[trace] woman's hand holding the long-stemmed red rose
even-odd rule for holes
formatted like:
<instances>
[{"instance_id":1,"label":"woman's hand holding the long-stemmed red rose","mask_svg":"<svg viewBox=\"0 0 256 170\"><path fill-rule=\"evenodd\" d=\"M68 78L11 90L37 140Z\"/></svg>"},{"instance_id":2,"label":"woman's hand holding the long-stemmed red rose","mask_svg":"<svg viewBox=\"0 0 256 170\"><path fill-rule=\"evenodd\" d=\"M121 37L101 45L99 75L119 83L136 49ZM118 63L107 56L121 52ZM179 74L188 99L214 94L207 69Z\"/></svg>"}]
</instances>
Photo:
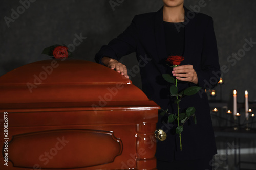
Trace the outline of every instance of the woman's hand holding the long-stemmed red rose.
<instances>
[{"instance_id":1,"label":"woman's hand holding the long-stemmed red rose","mask_svg":"<svg viewBox=\"0 0 256 170\"><path fill-rule=\"evenodd\" d=\"M194 70L193 65L181 65L175 67L172 73L178 80L194 84L198 83L197 73Z\"/></svg>"}]
</instances>

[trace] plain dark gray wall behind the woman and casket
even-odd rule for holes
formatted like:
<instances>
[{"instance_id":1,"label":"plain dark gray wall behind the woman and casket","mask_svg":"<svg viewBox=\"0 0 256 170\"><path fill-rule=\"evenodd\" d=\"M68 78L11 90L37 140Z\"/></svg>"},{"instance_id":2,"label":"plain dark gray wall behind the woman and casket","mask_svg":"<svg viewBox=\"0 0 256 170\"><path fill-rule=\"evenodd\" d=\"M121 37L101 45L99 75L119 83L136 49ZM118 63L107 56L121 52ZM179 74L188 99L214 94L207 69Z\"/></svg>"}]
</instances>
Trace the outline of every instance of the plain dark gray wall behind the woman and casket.
<instances>
[{"instance_id":1,"label":"plain dark gray wall behind the woman and casket","mask_svg":"<svg viewBox=\"0 0 256 170\"><path fill-rule=\"evenodd\" d=\"M1 0L0 76L19 66L49 59L41 54L45 47L72 44L75 34L87 38L75 47L73 58L94 61L99 48L121 33L134 15L154 12L162 6L161 0L113 1L121 2L114 10L109 0L33 0L30 4L26 3L29 6L26 8L21 7L20 1ZM198 1L185 0L187 8L196 5ZM12 9L18 9L19 16L12 16ZM238 90L238 102L244 101L245 90L249 91L249 101L256 100L256 44L243 51L245 39L256 42L255 9L254 0L205 0L205 6L198 9L214 18L220 65L226 65L229 69L223 72L224 100L229 100L233 89ZM8 27L5 17L16 18ZM233 53L241 53L240 56L243 57L239 60L232 58L236 63L228 62L228 56ZM122 62L130 69L137 64L134 54L125 56ZM141 87L139 74L132 81ZM216 90L219 98L220 87Z\"/></svg>"}]
</instances>

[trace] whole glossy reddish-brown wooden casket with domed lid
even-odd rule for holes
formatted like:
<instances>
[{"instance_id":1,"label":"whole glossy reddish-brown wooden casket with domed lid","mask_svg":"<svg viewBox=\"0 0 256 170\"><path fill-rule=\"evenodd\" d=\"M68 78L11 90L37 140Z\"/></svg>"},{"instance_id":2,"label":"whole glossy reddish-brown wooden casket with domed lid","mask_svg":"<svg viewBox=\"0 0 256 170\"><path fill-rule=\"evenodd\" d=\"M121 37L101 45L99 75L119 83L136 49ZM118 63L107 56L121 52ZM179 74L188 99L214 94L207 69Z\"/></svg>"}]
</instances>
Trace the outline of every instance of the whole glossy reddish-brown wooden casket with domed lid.
<instances>
[{"instance_id":1,"label":"whole glossy reddish-brown wooden casket with domed lid","mask_svg":"<svg viewBox=\"0 0 256 170\"><path fill-rule=\"evenodd\" d=\"M159 106L116 71L53 59L0 77L0 169L156 169Z\"/></svg>"}]
</instances>

